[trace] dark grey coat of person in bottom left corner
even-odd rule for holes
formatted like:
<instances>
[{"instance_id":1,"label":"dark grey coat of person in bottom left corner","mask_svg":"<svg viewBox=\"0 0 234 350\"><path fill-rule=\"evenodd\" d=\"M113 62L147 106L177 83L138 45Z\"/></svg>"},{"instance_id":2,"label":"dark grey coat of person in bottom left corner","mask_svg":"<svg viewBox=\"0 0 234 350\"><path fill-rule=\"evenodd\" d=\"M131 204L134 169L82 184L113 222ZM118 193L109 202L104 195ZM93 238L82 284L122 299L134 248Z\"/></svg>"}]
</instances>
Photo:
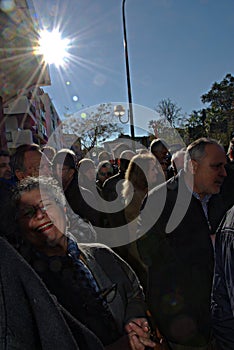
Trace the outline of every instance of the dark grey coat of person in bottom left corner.
<instances>
[{"instance_id":1,"label":"dark grey coat of person in bottom left corner","mask_svg":"<svg viewBox=\"0 0 234 350\"><path fill-rule=\"evenodd\" d=\"M102 350L52 298L31 267L0 238L0 349Z\"/></svg>"}]
</instances>

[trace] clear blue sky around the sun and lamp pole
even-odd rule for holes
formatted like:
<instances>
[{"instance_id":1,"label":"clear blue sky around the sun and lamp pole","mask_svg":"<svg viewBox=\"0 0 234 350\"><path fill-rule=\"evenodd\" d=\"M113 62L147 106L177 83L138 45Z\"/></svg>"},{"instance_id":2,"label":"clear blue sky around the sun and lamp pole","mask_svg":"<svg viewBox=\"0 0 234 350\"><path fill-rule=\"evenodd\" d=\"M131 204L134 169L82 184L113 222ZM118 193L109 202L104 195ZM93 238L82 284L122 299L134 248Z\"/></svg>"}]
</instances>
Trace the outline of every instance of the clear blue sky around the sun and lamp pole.
<instances>
[{"instance_id":1,"label":"clear blue sky around the sun and lamp pole","mask_svg":"<svg viewBox=\"0 0 234 350\"><path fill-rule=\"evenodd\" d=\"M31 1L41 25L59 25L73 39L72 61L51 66L52 85L44 89L60 116L126 102L122 1ZM233 0L126 0L133 103L148 110L170 98L184 114L203 108L201 95L234 74L233 15ZM134 121L147 130L149 119L141 113Z\"/></svg>"}]
</instances>

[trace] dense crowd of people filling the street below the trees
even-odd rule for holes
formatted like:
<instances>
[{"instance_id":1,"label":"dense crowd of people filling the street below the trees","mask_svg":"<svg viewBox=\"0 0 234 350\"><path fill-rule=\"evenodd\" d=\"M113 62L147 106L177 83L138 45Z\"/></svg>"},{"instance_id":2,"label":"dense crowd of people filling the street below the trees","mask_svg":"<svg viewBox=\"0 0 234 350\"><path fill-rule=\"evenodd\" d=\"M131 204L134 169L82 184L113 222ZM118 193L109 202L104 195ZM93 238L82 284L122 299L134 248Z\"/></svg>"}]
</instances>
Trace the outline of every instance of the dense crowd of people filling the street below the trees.
<instances>
[{"instance_id":1,"label":"dense crowd of people filling the street below the trees","mask_svg":"<svg viewBox=\"0 0 234 350\"><path fill-rule=\"evenodd\" d=\"M234 349L233 143L1 150L1 348Z\"/></svg>"}]
</instances>

